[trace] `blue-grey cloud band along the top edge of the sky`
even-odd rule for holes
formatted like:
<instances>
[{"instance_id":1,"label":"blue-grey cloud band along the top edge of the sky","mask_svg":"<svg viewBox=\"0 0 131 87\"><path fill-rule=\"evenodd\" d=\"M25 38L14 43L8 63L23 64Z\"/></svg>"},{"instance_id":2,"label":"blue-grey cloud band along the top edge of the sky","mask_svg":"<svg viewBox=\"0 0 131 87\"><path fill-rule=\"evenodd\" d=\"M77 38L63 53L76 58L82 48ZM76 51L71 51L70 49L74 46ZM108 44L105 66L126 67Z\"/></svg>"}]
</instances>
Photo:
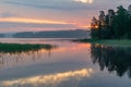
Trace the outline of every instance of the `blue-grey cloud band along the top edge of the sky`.
<instances>
[{"instance_id":1,"label":"blue-grey cloud band along the top edge of the sky","mask_svg":"<svg viewBox=\"0 0 131 87\"><path fill-rule=\"evenodd\" d=\"M86 2L86 4L81 3ZM15 4L15 5L22 5L22 7L31 7L31 8L37 8L37 9L52 9L52 10L87 10L90 7L88 3L92 3L93 0L55 0L55 1L46 1L46 0L38 0L36 3L35 1L27 0L24 1L4 1L4 3L8 4ZM43 3L43 4L41 4Z\"/></svg>"}]
</instances>

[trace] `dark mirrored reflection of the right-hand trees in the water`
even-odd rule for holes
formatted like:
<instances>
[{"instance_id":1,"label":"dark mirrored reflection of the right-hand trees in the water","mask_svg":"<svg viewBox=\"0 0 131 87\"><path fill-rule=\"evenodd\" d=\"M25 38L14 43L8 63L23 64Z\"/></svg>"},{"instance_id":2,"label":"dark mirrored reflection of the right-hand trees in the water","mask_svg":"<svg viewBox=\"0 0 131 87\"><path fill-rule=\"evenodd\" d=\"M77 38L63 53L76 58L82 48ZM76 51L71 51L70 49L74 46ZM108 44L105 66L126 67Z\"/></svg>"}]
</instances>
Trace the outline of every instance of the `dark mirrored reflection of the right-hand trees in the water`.
<instances>
[{"instance_id":1,"label":"dark mirrored reflection of the right-hand trees in the water","mask_svg":"<svg viewBox=\"0 0 131 87\"><path fill-rule=\"evenodd\" d=\"M102 71L116 72L118 76L126 73L131 78L131 48L92 45L93 63L98 63Z\"/></svg>"}]
</instances>

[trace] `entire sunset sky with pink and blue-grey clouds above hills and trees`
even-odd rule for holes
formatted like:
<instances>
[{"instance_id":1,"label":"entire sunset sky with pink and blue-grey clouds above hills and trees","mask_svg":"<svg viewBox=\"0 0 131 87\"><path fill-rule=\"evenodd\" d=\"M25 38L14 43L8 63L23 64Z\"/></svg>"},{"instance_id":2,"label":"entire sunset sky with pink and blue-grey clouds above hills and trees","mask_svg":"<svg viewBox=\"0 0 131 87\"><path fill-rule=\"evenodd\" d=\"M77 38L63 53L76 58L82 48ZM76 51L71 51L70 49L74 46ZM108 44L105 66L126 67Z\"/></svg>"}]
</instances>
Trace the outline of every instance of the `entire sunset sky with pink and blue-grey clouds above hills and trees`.
<instances>
[{"instance_id":1,"label":"entire sunset sky with pink and blue-grey clouds above hills and trees","mask_svg":"<svg viewBox=\"0 0 131 87\"><path fill-rule=\"evenodd\" d=\"M0 33L88 29L99 11L131 0L0 0Z\"/></svg>"}]
</instances>

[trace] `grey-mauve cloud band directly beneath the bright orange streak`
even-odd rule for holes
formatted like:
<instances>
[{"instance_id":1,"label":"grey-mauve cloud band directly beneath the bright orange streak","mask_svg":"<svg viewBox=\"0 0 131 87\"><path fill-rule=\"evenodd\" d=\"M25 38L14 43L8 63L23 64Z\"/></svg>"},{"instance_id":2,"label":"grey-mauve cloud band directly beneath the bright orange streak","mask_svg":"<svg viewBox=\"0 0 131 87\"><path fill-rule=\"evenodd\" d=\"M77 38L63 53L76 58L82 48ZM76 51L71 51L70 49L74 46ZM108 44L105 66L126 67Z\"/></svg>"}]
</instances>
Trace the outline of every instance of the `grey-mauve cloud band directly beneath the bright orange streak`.
<instances>
[{"instance_id":1,"label":"grey-mauve cloud band directly beneath the bright orange streak","mask_svg":"<svg viewBox=\"0 0 131 87\"><path fill-rule=\"evenodd\" d=\"M0 22L0 28L16 28L16 27L29 27L29 28L73 28L72 24L35 24L35 23L16 23L16 22Z\"/></svg>"}]
</instances>

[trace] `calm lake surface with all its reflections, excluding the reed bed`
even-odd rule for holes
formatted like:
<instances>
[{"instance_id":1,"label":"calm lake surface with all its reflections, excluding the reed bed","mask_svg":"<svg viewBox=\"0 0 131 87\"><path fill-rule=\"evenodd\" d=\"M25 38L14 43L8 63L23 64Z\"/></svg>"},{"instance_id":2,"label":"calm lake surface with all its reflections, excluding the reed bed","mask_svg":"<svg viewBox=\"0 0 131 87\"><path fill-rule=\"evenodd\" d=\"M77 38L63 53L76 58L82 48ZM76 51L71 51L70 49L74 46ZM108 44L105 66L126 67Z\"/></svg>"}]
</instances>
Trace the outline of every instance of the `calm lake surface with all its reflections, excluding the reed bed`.
<instances>
[{"instance_id":1,"label":"calm lake surface with all its reflections, excluding the reed bed","mask_svg":"<svg viewBox=\"0 0 131 87\"><path fill-rule=\"evenodd\" d=\"M51 44L58 48L0 51L0 87L130 87L131 48L57 39L0 39L1 42Z\"/></svg>"}]
</instances>

